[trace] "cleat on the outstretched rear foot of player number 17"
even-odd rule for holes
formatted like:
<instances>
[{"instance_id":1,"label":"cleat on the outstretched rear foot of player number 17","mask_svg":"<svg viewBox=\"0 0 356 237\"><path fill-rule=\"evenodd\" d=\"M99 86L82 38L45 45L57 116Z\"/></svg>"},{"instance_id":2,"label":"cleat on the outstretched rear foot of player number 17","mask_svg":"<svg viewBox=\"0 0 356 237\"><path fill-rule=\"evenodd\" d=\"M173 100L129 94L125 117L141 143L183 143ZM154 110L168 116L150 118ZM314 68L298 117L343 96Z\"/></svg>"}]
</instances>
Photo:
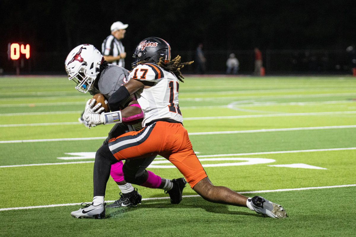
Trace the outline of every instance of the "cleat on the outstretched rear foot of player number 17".
<instances>
[{"instance_id":1,"label":"cleat on the outstretched rear foot of player number 17","mask_svg":"<svg viewBox=\"0 0 356 237\"><path fill-rule=\"evenodd\" d=\"M249 198L248 201L251 202L253 209L255 209L258 214L262 214L262 216L269 216L278 219L287 217L287 212L281 205L272 203L271 201L268 201L260 196Z\"/></svg>"}]
</instances>

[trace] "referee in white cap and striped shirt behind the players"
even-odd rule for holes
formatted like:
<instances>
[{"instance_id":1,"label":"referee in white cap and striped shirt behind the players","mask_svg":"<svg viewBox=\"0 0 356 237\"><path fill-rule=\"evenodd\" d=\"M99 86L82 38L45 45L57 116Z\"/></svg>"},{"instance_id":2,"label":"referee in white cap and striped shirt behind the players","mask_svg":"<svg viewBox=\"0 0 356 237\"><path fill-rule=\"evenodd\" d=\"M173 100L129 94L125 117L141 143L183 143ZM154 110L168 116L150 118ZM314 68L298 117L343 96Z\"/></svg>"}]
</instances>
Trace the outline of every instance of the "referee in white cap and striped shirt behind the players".
<instances>
[{"instance_id":1,"label":"referee in white cap and striped shirt behind the players","mask_svg":"<svg viewBox=\"0 0 356 237\"><path fill-rule=\"evenodd\" d=\"M101 53L104 55L104 59L111 64L124 68L126 53L121 39L125 37L126 28L128 26L127 24L122 24L121 21L112 23L110 36L106 37L103 44L101 44Z\"/></svg>"}]
</instances>

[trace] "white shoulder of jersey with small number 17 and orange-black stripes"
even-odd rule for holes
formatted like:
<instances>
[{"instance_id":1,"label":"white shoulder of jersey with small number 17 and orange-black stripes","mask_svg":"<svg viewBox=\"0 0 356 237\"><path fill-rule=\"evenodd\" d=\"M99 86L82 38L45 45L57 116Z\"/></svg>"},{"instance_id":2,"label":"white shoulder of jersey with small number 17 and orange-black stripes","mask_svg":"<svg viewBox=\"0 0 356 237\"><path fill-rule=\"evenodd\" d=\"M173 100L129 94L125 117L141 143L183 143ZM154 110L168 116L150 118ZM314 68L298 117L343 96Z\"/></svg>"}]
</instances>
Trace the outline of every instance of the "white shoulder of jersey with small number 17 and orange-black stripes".
<instances>
[{"instance_id":1,"label":"white shoulder of jersey with small number 17 and orange-black stripes","mask_svg":"<svg viewBox=\"0 0 356 237\"><path fill-rule=\"evenodd\" d=\"M153 63L140 64L129 75L129 79L140 81L156 81L163 77L163 69Z\"/></svg>"}]
</instances>

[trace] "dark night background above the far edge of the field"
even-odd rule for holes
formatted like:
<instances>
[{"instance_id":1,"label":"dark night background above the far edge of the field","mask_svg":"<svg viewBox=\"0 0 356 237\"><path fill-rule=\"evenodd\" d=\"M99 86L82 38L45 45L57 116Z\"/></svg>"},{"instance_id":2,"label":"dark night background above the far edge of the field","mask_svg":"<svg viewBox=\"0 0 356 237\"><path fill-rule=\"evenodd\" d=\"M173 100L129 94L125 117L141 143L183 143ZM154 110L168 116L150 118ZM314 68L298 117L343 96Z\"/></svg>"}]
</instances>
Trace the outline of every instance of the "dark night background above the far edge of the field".
<instances>
[{"instance_id":1,"label":"dark night background above the far edge of the field","mask_svg":"<svg viewBox=\"0 0 356 237\"><path fill-rule=\"evenodd\" d=\"M115 21L129 24L122 40L127 69L133 49L149 36L168 41L172 55L179 53L184 61L193 60L195 48L203 43L211 73L225 70L231 52L240 60L241 72L248 73L253 70L255 47L262 50L267 72L335 73L336 64L346 72L346 48L356 44L355 0L2 0L0 9L0 68L4 74L15 71L7 59L7 44L25 42L31 45L32 55L22 72L64 75L69 51L83 43L101 50ZM319 66L303 68L300 63L293 68L293 55L302 62L305 52L314 55ZM323 55L328 64L321 67Z\"/></svg>"}]
</instances>

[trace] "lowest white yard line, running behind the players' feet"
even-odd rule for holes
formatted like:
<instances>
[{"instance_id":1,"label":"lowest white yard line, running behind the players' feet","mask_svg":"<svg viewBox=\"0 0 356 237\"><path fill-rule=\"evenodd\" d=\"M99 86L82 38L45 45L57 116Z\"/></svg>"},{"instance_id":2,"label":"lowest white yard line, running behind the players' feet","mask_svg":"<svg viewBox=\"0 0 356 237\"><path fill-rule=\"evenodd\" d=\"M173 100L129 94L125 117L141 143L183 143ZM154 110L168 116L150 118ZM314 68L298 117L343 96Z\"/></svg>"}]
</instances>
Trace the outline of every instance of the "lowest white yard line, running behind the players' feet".
<instances>
[{"instance_id":1,"label":"lowest white yard line, running behind the players' feet","mask_svg":"<svg viewBox=\"0 0 356 237\"><path fill-rule=\"evenodd\" d=\"M334 185L334 186L322 186L322 187L307 187L307 188L287 188L287 189L275 189L275 190L259 190L259 191L247 191L247 192L238 192L240 194L246 193L272 193L272 192L290 192L290 191L301 191L301 190L310 190L310 189L326 189L326 188L346 188L346 187L355 187L356 184L344 184L344 185ZM183 195L183 198L195 198L199 197L199 195ZM169 197L161 197L161 198L143 198L142 201L146 200L161 200L161 199L169 199ZM115 200L106 201L108 203L112 203ZM90 203L88 201L87 203ZM0 208L0 211L10 211L10 210L21 210L21 209L33 209L33 208L53 208L57 206L77 206L82 203L66 203L66 204L52 204L52 205L42 205L42 206L22 206L16 208Z\"/></svg>"}]
</instances>

